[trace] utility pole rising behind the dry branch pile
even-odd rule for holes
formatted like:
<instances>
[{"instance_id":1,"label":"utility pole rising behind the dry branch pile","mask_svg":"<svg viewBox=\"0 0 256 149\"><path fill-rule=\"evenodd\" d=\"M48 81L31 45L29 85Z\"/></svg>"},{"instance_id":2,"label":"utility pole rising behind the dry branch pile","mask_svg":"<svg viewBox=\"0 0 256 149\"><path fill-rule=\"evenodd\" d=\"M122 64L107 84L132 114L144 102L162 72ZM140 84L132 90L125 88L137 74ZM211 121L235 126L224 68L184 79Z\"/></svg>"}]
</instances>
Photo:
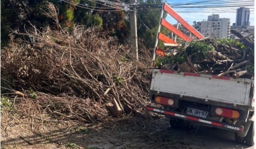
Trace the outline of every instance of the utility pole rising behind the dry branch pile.
<instances>
[{"instance_id":1,"label":"utility pole rising behind the dry branch pile","mask_svg":"<svg viewBox=\"0 0 256 149\"><path fill-rule=\"evenodd\" d=\"M136 4L136 0L129 0L130 4ZM136 54L138 60L138 37L137 37L137 20L136 20L136 9L133 7L130 12L130 30L131 30L131 46L132 53Z\"/></svg>"}]
</instances>

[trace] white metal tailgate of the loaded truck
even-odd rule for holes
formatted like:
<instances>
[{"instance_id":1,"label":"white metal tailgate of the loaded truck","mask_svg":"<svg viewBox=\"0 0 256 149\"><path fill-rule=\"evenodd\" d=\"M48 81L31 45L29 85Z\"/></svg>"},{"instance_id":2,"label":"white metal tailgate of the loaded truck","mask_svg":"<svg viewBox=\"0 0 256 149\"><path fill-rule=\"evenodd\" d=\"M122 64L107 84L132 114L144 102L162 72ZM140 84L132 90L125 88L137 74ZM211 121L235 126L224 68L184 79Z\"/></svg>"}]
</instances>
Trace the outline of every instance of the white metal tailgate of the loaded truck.
<instances>
[{"instance_id":1,"label":"white metal tailgate of the loaded truck","mask_svg":"<svg viewBox=\"0 0 256 149\"><path fill-rule=\"evenodd\" d=\"M249 106L252 80L153 69L150 91Z\"/></svg>"}]
</instances>

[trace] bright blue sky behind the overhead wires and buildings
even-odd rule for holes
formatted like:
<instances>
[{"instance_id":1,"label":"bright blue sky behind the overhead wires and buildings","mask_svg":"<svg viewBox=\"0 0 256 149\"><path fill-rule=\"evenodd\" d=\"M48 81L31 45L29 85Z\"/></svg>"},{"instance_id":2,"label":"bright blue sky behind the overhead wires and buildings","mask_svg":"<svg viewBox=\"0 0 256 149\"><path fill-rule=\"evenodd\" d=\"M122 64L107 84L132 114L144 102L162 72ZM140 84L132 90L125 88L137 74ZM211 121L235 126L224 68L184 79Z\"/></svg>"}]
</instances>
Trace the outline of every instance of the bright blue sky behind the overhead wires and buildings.
<instances>
[{"instance_id":1,"label":"bright blue sky behind the overhead wires and buildings","mask_svg":"<svg viewBox=\"0 0 256 149\"><path fill-rule=\"evenodd\" d=\"M196 0L196 1L201 1L201 0ZM205 1L205 0L204 0ZM242 1L242 0L241 0ZM193 0L167 0L167 3L171 4L171 3L183 3L183 2L193 2ZM236 9L239 7L232 7L232 9ZM186 8L186 9L181 9L181 8L173 8L176 12L179 13L180 16L182 16L182 18L184 18L185 20L187 20L190 24L193 24L193 21L196 22L200 22L203 19L207 20L207 17L212 15L213 11L216 10L216 8L213 9L209 9L209 8L202 8L202 9L197 9L200 11L205 11L204 13L194 13L194 12L190 12L190 13L182 13L179 11L195 11L195 9L193 8ZM221 8L222 10L225 10L225 8ZM226 9L230 9L230 8L226 8ZM207 13L207 11L211 11L209 13ZM252 10L251 10L252 11ZM230 18L231 21L231 25L232 23L235 23L235 19L236 19L236 10L232 10L232 12L221 12L221 13L214 13L214 14L219 14L220 18ZM175 19L173 19L170 15L167 15L168 22L175 24L177 23L177 21ZM253 26L254 25L254 12L250 12L250 25Z\"/></svg>"}]
</instances>

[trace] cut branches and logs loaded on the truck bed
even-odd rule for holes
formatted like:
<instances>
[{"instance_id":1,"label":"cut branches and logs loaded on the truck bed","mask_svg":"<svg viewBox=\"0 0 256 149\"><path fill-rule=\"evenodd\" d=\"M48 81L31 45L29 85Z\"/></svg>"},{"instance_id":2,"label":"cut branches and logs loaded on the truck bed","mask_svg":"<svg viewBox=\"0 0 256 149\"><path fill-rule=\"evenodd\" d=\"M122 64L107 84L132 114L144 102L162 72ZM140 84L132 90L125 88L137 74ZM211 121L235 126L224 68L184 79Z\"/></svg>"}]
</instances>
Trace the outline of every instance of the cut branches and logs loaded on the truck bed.
<instances>
[{"instance_id":1,"label":"cut branches and logs loaded on the truck bed","mask_svg":"<svg viewBox=\"0 0 256 149\"><path fill-rule=\"evenodd\" d=\"M155 66L178 72L251 78L254 73L254 39L249 36L240 38L193 41L172 49L170 53L161 53Z\"/></svg>"}]
</instances>

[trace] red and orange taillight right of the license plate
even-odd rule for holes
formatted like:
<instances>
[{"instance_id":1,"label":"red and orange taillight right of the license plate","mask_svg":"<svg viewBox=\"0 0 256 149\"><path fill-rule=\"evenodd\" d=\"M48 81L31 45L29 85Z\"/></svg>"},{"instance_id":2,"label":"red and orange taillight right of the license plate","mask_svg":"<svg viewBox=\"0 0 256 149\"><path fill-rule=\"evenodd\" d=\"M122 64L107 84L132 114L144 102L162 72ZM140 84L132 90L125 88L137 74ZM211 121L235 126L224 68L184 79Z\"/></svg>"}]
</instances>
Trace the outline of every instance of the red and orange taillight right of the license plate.
<instances>
[{"instance_id":1,"label":"red and orange taillight right of the license plate","mask_svg":"<svg viewBox=\"0 0 256 149\"><path fill-rule=\"evenodd\" d=\"M216 108L215 114L221 117L228 117L233 119L238 119L240 117L240 114L238 111L226 109L226 108Z\"/></svg>"}]
</instances>

